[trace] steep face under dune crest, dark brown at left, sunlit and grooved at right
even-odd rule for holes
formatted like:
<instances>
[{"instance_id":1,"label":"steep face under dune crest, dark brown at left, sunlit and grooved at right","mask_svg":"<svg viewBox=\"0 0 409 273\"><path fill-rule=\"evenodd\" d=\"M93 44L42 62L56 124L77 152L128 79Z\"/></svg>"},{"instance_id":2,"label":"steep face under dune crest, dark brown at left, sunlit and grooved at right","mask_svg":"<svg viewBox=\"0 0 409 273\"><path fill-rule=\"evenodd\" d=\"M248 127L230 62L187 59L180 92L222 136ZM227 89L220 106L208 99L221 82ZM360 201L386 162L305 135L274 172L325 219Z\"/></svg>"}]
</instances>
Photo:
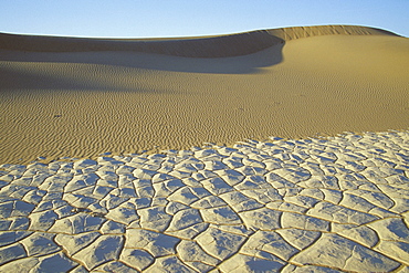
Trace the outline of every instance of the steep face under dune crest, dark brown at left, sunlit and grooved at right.
<instances>
[{"instance_id":1,"label":"steep face under dune crest, dark brown at left, sunlit and grooved at right","mask_svg":"<svg viewBox=\"0 0 409 273\"><path fill-rule=\"evenodd\" d=\"M295 27L181 39L86 39L0 33L0 49L33 52L134 51L188 57L226 57L255 53L295 39L335 34L397 35L357 25Z\"/></svg>"}]
</instances>

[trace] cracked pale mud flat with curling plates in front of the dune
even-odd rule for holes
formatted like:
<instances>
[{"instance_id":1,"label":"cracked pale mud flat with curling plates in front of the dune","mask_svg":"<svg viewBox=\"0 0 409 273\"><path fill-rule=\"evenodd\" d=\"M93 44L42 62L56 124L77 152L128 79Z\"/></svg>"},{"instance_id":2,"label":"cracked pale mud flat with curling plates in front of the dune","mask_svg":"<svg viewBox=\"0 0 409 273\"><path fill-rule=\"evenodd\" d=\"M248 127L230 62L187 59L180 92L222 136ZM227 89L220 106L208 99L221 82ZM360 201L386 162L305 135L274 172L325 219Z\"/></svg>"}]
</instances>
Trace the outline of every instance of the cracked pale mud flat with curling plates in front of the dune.
<instances>
[{"instance_id":1,"label":"cracked pale mud flat with curling plates in front of the dune","mask_svg":"<svg viewBox=\"0 0 409 273\"><path fill-rule=\"evenodd\" d=\"M2 165L0 272L409 272L409 132Z\"/></svg>"}]
</instances>

